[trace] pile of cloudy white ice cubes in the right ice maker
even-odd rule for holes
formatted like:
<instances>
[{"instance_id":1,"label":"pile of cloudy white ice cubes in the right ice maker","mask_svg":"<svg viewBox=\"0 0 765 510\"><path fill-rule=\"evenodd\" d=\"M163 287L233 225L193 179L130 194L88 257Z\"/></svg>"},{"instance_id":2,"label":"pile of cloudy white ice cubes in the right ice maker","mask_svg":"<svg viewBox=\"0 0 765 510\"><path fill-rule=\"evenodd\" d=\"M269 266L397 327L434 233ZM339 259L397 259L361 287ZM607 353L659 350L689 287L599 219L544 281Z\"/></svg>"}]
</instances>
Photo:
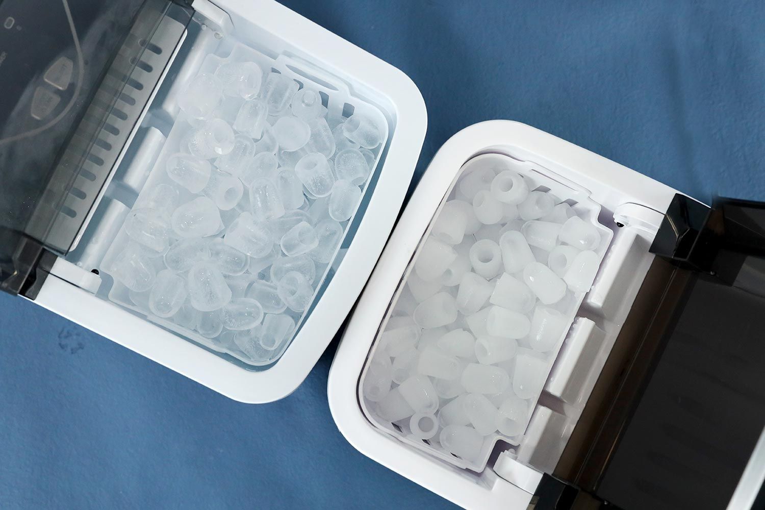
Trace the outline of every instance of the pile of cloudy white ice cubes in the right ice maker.
<instances>
[{"instance_id":1,"label":"pile of cloudy white ice cubes in the right ice maker","mask_svg":"<svg viewBox=\"0 0 765 510\"><path fill-rule=\"evenodd\" d=\"M448 459L519 444L601 261L597 227L532 182L491 164L461 176L367 363L367 409Z\"/></svg>"}]
</instances>

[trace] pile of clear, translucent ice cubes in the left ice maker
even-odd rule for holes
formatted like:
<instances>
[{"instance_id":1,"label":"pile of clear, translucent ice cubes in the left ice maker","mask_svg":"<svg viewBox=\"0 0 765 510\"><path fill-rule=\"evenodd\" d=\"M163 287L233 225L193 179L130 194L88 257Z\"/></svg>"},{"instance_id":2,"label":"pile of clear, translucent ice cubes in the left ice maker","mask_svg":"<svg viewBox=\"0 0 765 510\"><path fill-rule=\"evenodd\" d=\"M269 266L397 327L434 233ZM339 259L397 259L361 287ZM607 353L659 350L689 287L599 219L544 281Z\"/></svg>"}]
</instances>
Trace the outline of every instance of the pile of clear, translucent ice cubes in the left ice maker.
<instances>
[{"instance_id":1,"label":"pile of clear, translucent ice cubes in the left ice maker","mask_svg":"<svg viewBox=\"0 0 765 510\"><path fill-rule=\"evenodd\" d=\"M252 362L294 335L383 141L365 115L328 119L301 85L253 62L190 80L169 179L142 191L104 268L148 316Z\"/></svg>"}]
</instances>

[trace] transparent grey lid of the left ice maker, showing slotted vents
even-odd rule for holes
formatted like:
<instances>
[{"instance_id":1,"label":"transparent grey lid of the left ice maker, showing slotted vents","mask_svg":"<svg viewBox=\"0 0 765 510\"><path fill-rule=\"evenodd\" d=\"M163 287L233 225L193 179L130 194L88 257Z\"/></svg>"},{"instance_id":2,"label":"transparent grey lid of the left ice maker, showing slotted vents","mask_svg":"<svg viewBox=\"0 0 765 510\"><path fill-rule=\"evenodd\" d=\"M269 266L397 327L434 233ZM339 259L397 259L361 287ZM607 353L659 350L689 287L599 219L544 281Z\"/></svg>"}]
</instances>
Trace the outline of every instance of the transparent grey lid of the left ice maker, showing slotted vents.
<instances>
[{"instance_id":1,"label":"transparent grey lid of the left ice maker, showing slotted vents","mask_svg":"<svg viewBox=\"0 0 765 510\"><path fill-rule=\"evenodd\" d=\"M3 290L18 292L30 243L70 249L169 60L155 41L171 27L177 43L192 14L184 0L0 0Z\"/></svg>"}]
</instances>

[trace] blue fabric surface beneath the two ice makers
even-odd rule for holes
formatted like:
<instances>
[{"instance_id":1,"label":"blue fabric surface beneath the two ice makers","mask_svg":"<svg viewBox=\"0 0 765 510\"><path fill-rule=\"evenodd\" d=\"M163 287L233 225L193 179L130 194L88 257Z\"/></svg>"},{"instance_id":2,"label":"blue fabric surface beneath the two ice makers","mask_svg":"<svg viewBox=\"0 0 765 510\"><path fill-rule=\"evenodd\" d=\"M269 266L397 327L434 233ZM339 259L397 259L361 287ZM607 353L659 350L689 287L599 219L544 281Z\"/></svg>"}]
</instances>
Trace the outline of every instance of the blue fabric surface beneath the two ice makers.
<instances>
[{"instance_id":1,"label":"blue fabric surface beneath the two ice makers","mask_svg":"<svg viewBox=\"0 0 765 510\"><path fill-rule=\"evenodd\" d=\"M702 200L765 200L763 2L285 4L417 83L418 175L464 126L516 119ZM2 508L448 505L343 440L334 344L295 394L255 406L34 304L0 307Z\"/></svg>"}]
</instances>

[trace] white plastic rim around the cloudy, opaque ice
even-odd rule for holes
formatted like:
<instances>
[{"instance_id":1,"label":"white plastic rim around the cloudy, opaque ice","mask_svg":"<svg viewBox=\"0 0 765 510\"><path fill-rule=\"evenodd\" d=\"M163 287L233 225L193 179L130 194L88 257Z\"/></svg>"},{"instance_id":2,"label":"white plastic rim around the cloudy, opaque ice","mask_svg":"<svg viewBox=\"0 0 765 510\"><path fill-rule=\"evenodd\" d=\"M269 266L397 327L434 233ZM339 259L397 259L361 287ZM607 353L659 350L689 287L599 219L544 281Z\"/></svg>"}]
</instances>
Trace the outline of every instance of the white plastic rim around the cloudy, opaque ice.
<instances>
[{"instance_id":1,"label":"white plastic rim around the cloudy, opaque ice","mask_svg":"<svg viewBox=\"0 0 765 510\"><path fill-rule=\"evenodd\" d=\"M373 339L433 213L462 165L477 154L491 152L534 161L588 190L605 210L637 203L663 211L675 194L664 184L528 125L498 120L464 128L435 155L402 213L343 332L327 395L340 432L366 456L457 505L521 510L529 505L531 493L500 479L492 469L470 473L406 447L377 430L364 416L358 399L360 375Z\"/></svg>"}]
</instances>

